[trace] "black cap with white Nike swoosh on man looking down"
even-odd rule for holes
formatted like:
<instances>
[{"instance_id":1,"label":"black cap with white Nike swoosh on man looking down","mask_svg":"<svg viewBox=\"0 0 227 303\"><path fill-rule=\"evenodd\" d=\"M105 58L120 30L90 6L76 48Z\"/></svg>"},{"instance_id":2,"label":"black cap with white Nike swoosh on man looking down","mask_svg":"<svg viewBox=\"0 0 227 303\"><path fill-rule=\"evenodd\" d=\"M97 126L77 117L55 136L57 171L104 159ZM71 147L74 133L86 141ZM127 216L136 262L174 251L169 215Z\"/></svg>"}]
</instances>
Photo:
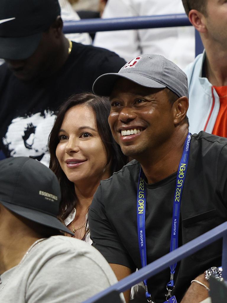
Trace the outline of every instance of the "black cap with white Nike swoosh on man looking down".
<instances>
[{"instance_id":1,"label":"black cap with white Nike swoosh on man looking down","mask_svg":"<svg viewBox=\"0 0 227 303\"><path fill-rule=\"evenodd\" d=\"M61 15L58 0L0 1L0 58L22 60L37 49L42 33Z\"/></svg>"}]
</instances>

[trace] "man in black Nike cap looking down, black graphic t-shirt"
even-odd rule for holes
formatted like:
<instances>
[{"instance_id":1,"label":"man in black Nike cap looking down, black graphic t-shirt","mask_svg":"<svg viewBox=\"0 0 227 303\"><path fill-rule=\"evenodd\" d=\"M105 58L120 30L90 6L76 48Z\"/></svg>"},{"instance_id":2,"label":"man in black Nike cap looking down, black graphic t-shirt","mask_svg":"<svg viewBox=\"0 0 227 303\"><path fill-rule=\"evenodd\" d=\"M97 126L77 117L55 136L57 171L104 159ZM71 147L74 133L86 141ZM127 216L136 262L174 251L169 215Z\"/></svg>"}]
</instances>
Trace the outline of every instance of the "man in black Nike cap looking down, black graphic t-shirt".
<instances>
[{"instance_id":1,"label":"man in black Nike cap looking down, black graphic t-shirt","mask_svg":"<svg viewBox=\"0 0 227 303\"><path fill-rule=\"evenodd\" d=\"M57 0L0 1L0 58L6 61L0 67L0 159L31 155L48 164L59 105L125 64L113 52L65 38L60 14Z\"/></svg>"}]
</instances>

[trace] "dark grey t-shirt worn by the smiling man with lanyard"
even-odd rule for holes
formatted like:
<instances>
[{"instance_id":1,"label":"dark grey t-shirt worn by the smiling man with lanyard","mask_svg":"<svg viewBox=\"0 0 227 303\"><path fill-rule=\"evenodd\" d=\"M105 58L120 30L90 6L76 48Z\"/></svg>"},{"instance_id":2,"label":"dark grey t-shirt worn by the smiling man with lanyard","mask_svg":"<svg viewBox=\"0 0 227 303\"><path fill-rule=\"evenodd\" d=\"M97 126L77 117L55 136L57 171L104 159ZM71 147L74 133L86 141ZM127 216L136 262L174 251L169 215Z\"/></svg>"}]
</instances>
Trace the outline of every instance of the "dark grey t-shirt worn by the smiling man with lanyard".
<instances>
[{"instance_id":1,"label":"dark grey t-shirt worn by the smiling man with lanyard","mask_svg":"<svg viewBox=\"0 0 227 303\"><path fill-rule=\"evenodd\" d=\"M226 221L227 138L200 132L192 135L188 169L183 188L179 246ZM140 165L133 160L108 180L101 181L89 210L93 245L109 263L141 268L137 235L137 185ZM170 249L176 173L146 189L147 264ZM175 273L177 302L190 281L211 266L221 265L221 241L214 242L178 262ZM170 269L148 279L156 303L165 301ZM144 294L145 295L145 294Z\"/></svg>"}]
</instances>

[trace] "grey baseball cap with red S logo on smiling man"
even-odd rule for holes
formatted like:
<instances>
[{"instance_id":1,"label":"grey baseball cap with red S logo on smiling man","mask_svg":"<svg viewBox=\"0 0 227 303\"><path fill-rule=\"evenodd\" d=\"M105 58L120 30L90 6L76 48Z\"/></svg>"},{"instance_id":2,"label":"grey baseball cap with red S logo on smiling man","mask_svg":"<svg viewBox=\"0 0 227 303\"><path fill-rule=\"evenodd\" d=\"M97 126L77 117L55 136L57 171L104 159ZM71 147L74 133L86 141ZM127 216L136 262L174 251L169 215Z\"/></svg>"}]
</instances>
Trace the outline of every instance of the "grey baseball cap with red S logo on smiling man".
<instances>
[{"instance_id":1,"label":"grey baseball cap with red S logo on smiling man","mask_svg":"<svg viewBox=\"0 0 227 303\"><path fill-rule=\"evenodd\" d=\"M109 97L119 78L126 78L150 88L167 87L177 96L189 98L186 74L175 63L160 55L137 56L126 63L118 73L99 76L93 84L93 92Z\"/></svg>"}]
</instances>

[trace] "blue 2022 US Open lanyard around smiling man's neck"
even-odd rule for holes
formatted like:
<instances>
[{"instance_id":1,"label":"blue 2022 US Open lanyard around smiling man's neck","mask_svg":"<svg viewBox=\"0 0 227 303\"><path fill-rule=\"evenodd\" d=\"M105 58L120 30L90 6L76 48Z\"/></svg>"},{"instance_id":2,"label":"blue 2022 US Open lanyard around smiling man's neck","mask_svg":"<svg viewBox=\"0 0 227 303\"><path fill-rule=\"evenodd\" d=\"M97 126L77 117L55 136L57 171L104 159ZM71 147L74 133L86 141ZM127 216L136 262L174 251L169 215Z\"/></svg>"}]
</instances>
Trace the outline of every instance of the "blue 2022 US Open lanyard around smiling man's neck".
<instances>
[{"instance_id":1,"label":"blue 2022 US Open lanyard around smiling man's neck","mask_svg":"<svg viewBox=\"0 0 227 303\"><path fill-rule=\"evenodd\" d=\"M180 203L181 203L184 181L186 177L186 171L188 168L190 141L191 141L191 134L189 133L184 143L183 154L179 163L177 178L176 178L176 187L175 187L175 194L173 199L173 219L172 219L172 228L171 228L170 251L174 251L176 248L178 248ZM146 235L145 235L146 184L144 180L145 180L145 175L141 168L139 182L138 182L138 190L137 190L137 231L138 231L138 241L139 241L142 267L146 266ZM177 263L174 263L170 266L170 281L166 285L168 294L166 295L166 301L164 303L166 302L177 303L175 296L171 297L171 292L175 288L173 276L175 273L176 265ZM146 290L147 301L149 303L154 303L154 301L151 299L151 295L148 292L146 280L144 280L143 283Z\"/></svg>"}]
</instances>

